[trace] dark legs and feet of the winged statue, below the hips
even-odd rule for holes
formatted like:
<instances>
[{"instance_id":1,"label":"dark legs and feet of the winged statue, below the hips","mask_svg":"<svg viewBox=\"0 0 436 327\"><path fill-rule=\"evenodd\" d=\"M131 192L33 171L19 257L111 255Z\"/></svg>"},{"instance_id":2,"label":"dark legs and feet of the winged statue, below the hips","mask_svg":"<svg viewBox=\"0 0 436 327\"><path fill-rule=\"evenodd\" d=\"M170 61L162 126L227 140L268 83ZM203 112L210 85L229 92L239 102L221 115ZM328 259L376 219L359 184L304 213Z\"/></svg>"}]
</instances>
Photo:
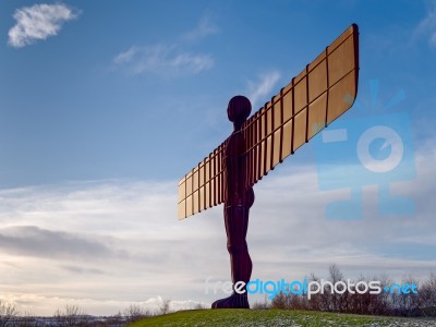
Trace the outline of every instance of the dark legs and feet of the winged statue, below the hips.
<instances>
[{"instance_id":1,"label":"dark legs and feet of the winged statue, below the hips","mask_svg":"<svg viewBox=\"0 0 436 327\"><path fill-rule=\"evenodd\" d=\"M225 208L227 232L227 249L230 254L231 277L233 284L243 281L245 284L252 276L253 264L246 244L250 207L235 206ZM246 291L243 294L233 293L226 299L215 301L211 308L250 308Z\"/></svg>"}]
</instances>

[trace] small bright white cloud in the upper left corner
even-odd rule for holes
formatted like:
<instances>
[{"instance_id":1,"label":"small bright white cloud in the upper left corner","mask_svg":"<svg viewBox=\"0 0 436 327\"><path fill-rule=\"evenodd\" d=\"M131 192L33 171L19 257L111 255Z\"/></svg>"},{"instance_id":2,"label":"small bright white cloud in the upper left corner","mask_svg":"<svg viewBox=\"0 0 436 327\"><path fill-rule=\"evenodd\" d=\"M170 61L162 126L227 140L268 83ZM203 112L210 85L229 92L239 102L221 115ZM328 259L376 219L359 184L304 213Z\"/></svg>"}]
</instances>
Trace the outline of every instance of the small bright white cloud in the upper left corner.
<instances>
[{"instance_id":1,"label":"small bright white cloud in the upper left corner","mask_svg":"<svg viewBox=\"0 0 436 327\"><path fill-rule=\"evenodd\" d=\"M13 15L16 24L9 31L9 44L22 48L36 40L57 35L62 25L75 19L75 13L65 4L35 4L17 9Z\"/></svg>"}]
</instances>

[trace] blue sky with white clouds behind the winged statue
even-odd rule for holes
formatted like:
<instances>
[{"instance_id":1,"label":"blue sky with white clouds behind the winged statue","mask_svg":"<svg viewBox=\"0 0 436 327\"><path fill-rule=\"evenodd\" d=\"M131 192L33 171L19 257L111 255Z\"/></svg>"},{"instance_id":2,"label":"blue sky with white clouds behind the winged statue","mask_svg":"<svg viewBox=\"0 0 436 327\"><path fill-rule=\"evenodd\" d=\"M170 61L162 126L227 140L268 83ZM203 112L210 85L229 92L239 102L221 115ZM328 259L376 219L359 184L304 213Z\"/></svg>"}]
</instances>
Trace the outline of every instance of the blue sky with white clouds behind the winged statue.
<instances>
[{"instance_id":1,"label":"blue sky with white clouds behind the winged statue","mask_svg":"<svg viewBox=\"0 0 436 327\"><path fill-rule=\"evenodd\" d=\"M352 23L358 99L327 129L350 143L319 134L254 186L252 279L436 274L436 1L7 0L0 299L110 315L223 296L205 287L230 280L222 208L179 221L178 182L231 133L232 96L254 112ZM401 162L355 179L375 126L399 138L370 160ZM331 218L347 198L358 215Z\"/></svg>"}]
</instances>

